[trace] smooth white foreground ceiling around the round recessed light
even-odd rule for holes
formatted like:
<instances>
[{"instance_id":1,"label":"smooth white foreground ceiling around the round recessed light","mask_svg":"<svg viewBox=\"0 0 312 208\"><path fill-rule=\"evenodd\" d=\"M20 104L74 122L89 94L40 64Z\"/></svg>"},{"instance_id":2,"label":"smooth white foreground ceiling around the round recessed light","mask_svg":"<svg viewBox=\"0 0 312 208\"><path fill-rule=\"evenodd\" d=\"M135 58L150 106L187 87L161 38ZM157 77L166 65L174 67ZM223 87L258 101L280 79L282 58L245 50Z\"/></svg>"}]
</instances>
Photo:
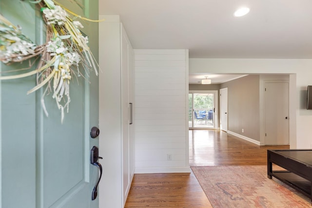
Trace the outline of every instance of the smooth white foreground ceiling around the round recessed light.
<instances>
[{"instance_id":1,"label":"smooth white foreground ceiling around the round recessed light","mask_svg":"<svg viewBox=\"0 0 312 208\"><path fill-rule=\"evenodd\" d=\"M242 6L250 13L234 17ZM99 14L119 15L135 49L189 49L190 58L312 58L312 0L99 0Z\"/></svg>"}]
</instances>

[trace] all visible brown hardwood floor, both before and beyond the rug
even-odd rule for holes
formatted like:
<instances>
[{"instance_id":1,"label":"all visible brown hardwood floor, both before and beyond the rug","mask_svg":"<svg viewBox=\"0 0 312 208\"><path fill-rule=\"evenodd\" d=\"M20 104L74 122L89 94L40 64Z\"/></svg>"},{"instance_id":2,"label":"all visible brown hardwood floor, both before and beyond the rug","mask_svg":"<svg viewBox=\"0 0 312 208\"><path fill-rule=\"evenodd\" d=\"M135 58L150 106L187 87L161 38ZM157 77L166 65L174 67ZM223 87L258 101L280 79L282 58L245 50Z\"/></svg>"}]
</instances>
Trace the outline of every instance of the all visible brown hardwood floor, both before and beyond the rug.
<instances>
[{"instance_id":1,"label":"all visible brown hardwood floor, both before and beyond the rug","mask_svg":"<svg viewBox=\"0 0 312 208\"><path fill-rule=\"evenodd\" d=\"M190 130L190 166L266 165L268 149L218 130ZM193 172L135 174L126 208L212 208Z\"/></svg>"}]
</instances>

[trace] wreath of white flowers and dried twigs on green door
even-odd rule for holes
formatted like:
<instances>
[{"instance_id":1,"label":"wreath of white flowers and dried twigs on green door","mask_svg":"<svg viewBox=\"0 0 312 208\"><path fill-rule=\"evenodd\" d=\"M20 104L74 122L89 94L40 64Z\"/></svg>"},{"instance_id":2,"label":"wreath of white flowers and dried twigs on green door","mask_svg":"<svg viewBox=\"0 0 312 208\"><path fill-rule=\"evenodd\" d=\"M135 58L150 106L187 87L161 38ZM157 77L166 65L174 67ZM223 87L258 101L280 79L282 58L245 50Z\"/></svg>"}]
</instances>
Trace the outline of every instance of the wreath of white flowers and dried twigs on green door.
<instances>
[{"instance_id":1,"label":"wreath of white flowers and dried twigs on green door","mask_svg":"<svg viewBox=\"0 0 312 208\"><path fill-rule=\"evenodd\" d=\"M67 108L68 112L70 103L70 80L73 76L83 76L79 72L78 64L81 64L86 72L93 69L98 76L98 63L87 45L88 37L84 37L79 30L79 27L83 28L82 24L70 19L67 12L76 17L79 17L78 15L69 10L66 12L62 6L56 5L52 0L31 2L37 3L41 8L42 18L47 24L47 42L36 46L21 33L20 28L0 15L0 61L10 64L41 56L39 64L31 72L14 76L0 76L0 80L37 74L38 83L27 94L33 93L47 84L41 98L41 105L47 116L44 96L51 91L51 83L53 83L52 97L61 111L61 122L63 122L64 108Z\"/></svg>"}]
</instances>

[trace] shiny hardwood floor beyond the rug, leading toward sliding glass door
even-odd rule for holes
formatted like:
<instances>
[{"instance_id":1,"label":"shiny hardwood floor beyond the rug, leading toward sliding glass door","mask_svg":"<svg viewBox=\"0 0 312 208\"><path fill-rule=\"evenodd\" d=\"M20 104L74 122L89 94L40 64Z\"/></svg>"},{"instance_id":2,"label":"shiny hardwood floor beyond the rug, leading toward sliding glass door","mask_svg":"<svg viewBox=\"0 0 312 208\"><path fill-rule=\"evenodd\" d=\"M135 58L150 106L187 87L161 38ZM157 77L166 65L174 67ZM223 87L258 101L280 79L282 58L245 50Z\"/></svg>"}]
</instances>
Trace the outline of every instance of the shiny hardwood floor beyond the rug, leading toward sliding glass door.
<instances>
[{"instance_id":1,"label":"shiny hardwood floor beyond the rug, leading toward sliding glass door","mask_svg":"<svg viewBox=\"0 0 312 208\"><path fill-rule=\"evenodd\" d=\"M190 130L190 166L267 165L268 149L289 146L258 146L227 132Z\"/></svg>"}]
</instances>

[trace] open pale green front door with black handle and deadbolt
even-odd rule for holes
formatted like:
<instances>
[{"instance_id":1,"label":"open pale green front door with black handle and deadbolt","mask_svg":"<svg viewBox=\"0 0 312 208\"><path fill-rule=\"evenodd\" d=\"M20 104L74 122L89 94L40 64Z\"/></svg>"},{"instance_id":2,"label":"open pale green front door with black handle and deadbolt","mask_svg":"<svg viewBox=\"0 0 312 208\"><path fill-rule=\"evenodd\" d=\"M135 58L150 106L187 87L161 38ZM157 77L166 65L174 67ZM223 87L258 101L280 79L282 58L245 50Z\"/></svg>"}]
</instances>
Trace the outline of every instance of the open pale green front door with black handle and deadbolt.
<instances>
[{"instance_id":1,"label":"open pale green front door with black handle and deadbolt","mask_svg":"<svg viewBox=\"0 0 312 208\"><path fill-rule=\"evenodd\" d=\"M60 2L71 9L71 0ZM98 19L98 1L81 1L85 2L88 5L72 9L89 14L96 8L90 19ZM35 4L0 0L0 14L20 25L37 44L45 41L45 25ZM90 48L98 59L97 23L88 23L83 32L89 35ZM0 71L27 66L28 62L1 63ZM45 96L48 117L40 103L43 90L26 95L34 86L35 76L0 81L0 207L98 208L98 198L91 199L98 168L89 158L92 147L98 146L98 137L90 137L91 128L98 127L98 76L91 72L90 77L72 79L71 102L63 124L52 95Z\"/></svg>"}]
</instances>

